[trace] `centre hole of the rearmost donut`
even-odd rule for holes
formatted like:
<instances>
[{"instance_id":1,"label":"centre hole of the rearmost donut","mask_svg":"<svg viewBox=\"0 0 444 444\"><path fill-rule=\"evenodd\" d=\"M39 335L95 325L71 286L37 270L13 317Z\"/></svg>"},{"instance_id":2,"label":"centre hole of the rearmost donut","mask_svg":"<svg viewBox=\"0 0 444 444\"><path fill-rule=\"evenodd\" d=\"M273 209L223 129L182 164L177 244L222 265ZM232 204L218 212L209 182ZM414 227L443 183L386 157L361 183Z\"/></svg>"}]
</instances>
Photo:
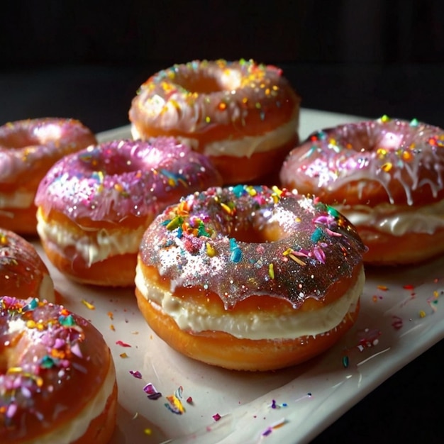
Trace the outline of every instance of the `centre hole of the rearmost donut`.
<instances>
[{"instance_id":1,"label":"centre hole of the rearmost donut","mask_svg":"<svg viewBox=\"0 0 444 444\"><path fill-rule=\"evenodd\" d=\"M176 83L191 93L212 94L231 91L240 87L240 73L235 70L209 72L201 70L187 77L179 77Z\"/></svg>"}]
</instances>

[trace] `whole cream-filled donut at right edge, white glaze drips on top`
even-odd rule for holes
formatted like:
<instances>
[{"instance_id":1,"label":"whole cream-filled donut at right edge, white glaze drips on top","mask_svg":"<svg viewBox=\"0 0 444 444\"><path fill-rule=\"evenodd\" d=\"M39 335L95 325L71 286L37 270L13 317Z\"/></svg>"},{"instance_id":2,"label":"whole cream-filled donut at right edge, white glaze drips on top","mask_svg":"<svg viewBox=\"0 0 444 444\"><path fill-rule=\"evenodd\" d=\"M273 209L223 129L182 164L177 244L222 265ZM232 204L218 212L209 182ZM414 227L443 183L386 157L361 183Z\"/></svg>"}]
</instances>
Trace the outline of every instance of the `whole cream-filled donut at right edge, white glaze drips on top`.
<instances>
[{"instance_id":1,"label":"whole cream-filled donut at right edge, white glaze drips on top","mask_svg":"<svg viewBox=\"0 0 444 444\"><path fill-rule=\"evenodd\" d=\"M368 247L368 264L409 264L444 252L440 128L383 116L319 131L292 151L280 179L343 213Z\"/></svg>"}]
</instances>

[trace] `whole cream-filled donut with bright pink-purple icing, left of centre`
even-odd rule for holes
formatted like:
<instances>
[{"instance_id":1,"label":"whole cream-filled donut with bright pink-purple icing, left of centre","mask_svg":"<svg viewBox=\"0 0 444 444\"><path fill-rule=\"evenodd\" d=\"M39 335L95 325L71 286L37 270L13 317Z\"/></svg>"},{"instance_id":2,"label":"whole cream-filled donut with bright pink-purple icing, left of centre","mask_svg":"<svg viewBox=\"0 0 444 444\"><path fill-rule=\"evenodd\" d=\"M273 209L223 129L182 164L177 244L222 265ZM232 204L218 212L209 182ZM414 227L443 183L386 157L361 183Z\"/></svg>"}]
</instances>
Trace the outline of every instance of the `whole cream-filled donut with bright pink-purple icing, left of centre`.
<instances>
[{"instance_id":1,"label":"whole cream-filled donut with bright pink-purple icing, left of centre","mask_svg":"<svg viewBox=\"0 0 444 444\"><path fill-rule=\"evenodd\" d=\"M57 162L40 183L38 234L67 277L133 286L152 219L181 196L218 184L211 162L174 138L91 145Z\"/></svg>"}]
</instances>

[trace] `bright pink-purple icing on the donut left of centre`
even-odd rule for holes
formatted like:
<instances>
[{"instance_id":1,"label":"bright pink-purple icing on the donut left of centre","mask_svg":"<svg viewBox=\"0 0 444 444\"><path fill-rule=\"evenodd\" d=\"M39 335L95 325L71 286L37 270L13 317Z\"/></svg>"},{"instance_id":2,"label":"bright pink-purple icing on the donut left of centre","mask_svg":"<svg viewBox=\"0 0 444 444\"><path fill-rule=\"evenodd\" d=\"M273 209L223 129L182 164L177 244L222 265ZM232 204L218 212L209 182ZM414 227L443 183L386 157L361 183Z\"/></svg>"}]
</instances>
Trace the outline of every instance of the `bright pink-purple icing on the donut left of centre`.
<instances>
[{"instance_id":1,"label":"bright pink-purple icing on the donut left of centre","mask_svg":"<svg viewBox=\"0 0 444 444\"><path fill-rule=\"evenodd\" d=\"M40 182L35 204L74 221L119 222L157 213L180 196L220 183L204 155L174 138L114 140L57 162Z\"/></svg>"}]
</instances>

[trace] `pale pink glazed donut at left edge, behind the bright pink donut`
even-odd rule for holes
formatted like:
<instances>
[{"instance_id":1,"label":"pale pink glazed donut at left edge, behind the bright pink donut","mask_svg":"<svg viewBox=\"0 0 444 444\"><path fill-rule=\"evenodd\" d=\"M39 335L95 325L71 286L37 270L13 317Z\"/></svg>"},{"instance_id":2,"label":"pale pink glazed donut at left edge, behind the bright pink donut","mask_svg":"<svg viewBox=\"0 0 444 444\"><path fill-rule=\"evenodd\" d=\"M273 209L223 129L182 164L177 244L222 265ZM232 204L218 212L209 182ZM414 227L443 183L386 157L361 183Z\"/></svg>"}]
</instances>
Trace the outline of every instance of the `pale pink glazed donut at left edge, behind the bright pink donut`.
<instances>
[{"instance_id":1,"label":"pale pink glazed donut at left edge, behind the bright pink donut","mask_svg":"<svg viewBox=\"0 0 444 444\"><path fill-rule=\"evenodd\" d=\"M0 126L0 226L35 235L34 196L52 164L96 143L82 123L67 118L35 118Z\"/></svg>"}]
</instances>

